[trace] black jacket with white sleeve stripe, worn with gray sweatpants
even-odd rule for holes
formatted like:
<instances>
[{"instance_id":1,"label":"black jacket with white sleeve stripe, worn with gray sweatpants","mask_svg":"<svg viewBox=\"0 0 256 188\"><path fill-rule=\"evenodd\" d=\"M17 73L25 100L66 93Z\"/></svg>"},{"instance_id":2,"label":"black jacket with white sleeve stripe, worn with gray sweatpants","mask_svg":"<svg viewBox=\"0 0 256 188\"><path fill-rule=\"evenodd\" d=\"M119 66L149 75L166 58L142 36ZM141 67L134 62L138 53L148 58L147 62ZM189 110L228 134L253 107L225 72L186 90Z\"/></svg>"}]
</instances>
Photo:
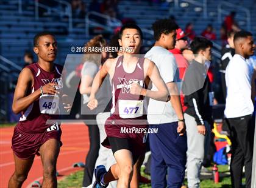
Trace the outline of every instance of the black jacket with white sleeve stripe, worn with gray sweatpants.
<instances>
[{"instance_id":1,"label":"black jacket with white sleeve stripe, worn with gray sweatpants","mask_svg":"<svg viewBox=\"0 0 256 188\"><path fill-rule=\"evenodd\" d=\"M187 107L185 113L193 116L197 125L204 124L204 121L212 124L210 100L213 102L213 93L204 64L192 61L186 70L182 92L185 95L184 104Z\"/></svg>"}]
</instances>

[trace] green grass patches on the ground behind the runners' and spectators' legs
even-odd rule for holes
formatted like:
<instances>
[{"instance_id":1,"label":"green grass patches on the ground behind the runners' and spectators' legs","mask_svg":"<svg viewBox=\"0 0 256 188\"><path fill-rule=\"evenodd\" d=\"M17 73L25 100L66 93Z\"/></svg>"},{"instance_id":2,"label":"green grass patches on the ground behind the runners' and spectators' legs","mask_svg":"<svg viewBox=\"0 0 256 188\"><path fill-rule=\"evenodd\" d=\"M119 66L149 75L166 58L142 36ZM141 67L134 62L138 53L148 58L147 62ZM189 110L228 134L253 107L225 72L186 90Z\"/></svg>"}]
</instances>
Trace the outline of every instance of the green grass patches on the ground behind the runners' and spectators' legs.
<instances>
[{"instance_id":1,"label":"green grass patches on the ground behind the runners' and spectators' legs","mask_svg":"<svg viewBox=\"0 0 256 188\"><path fill-rule=\"evenodd\" d=\"M226 173L229 171L228 166L224 165L224 166L218 166L219 168L219 173ZM211 168L208 168L209 170ZM143 172L143 168L141 168L141 175L146 176L147 178L150 178L150 176L145 175ZM76 173L73 173L69 176L67 176L65 179L59 181L58 183L58 187L60 188L78 188L78 187L82 187L82 179L83 179L83 171L79 171ZM187 184L187 180L185 180L185 184ZM230 180L230 176L224 177L224 178L220 178L219 183L215 184L213 182L213 180L202 180L201 181L201 188L217 188L217 187L223 187L223 188L228 188L231 187L231 180ZM140 188L151 188L150 184L141 184Z\"/></svg>"}]
</instances>

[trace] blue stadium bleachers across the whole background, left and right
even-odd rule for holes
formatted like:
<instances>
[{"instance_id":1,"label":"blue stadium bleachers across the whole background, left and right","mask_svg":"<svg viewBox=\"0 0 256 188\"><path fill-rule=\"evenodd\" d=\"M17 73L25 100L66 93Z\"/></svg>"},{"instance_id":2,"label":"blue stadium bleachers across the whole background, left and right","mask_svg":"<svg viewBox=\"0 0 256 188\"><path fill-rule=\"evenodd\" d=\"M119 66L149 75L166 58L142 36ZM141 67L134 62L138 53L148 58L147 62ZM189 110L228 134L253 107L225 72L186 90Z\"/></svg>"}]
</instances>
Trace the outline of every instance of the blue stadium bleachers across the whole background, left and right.
<instances>
[{"instance_id":1,"label":"blue stadium bleachers across the whole background, left and right","mask_svg":"<svg viewBox=\"0 0 256 188\"><path fill-rule=\"evenodd\" d=\"M62 5L66 5L67 2L69 2L63 0L51 0L51 2L52 1L60 2ZM86 19L72 19L71 23L73 23L73 27L71 28L69 15L66 14L67 8L61 6L51 9L51 7L41 5L41 7L44 7L47 11L45 15L38 16L36 2L35 0L0 1L0 55L4 56L4 58L11 61L13 64L23 67L24 52L25 50L32 51L34 35L38 32L50 31L55 33L58 41L59 54L56 62L63 64L66 55L71 53L72 46L82 47L88 39L93 37L93 34L89 33L88 30L94 26L92 24L87 25L85 23ZM88 8L91 0L84 0L84 2ZM102 2L102 0L99 2ZM204 4L205 2L207 3ZM145 37L144 46L151 46L154 43L151 29L152 23L156 19L169 18L171 15L176 17L176 22L182 29L185 29L185 25L188 22L193 22L194 30L197 35L201 34L207 24L212 24L216 30L217 38L219 38L221 22L224 16L232 10L236 11L236 20L241 28L248 28L246 11L242 10L243 8L247 8L246 10L250 13L249 26L251 27L251 32L255 35L256 4L254 4L254 1L226 0L225 2L231 3L232 5L222 6L222 17L221 21L219 21L219 4L222 2L224 1L168 0L154 3L146 0L120 0L118 11L122 18L134 19L143 29ZM87 13L89 13L89 10L87 10ZM102 15L101 17L104 19L105 16ZM78 22L79 24L76 25L74 22ZM103 26L107 28L107 25ZM218 44L220 44L220 42L216 40L215 43L216 51L214 55L218 57L220 47ZM4 80L10 79L8 75L12 75L11 78L15 78L15 73L19 72L18 69L13 68L12 64L2 61L1 58L0 64L1 83L4 82ZM11 82L7 90L8 88L10 90L10 87L14 87ZM4 100L2 96L2 89L4 88L5 87L1 87L1 100Z\"/></svg>"}]
</instances>

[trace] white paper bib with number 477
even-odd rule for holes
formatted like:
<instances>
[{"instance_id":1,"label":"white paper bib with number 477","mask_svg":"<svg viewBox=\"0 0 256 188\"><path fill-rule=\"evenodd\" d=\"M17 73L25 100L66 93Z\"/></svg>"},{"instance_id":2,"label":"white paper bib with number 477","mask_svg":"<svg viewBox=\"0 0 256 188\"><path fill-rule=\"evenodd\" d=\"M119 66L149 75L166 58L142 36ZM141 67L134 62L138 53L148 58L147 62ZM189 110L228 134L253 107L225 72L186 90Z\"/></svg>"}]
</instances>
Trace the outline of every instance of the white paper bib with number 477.
<instances>
[{"instance_id":1,"label":"white paper bib with number 477","mask_svg":"<svg viewBox=\"0 0 256 188\"><path fill-rule=\"evenodd\" d=\"M121 118L137 118L143 115L143 101L119 100L118 105Z\"/></svg>"}]
</instances>

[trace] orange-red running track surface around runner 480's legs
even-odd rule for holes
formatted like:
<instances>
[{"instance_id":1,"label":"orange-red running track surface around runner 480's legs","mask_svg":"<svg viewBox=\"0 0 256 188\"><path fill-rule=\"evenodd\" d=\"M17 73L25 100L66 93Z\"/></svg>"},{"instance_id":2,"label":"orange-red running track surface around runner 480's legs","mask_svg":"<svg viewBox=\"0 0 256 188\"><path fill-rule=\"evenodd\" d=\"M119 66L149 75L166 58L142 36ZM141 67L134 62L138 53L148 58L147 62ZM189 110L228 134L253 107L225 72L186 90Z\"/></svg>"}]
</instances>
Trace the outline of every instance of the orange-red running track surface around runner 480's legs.
<instances>
[{"instance_id":1,"label":"orange-red running track surface around runner 480's legs","mask_svg":"<svg viewBox=\"0 0 256 188\"><path fill-rule=\"evenodd\" d=\"M11 149L12 135L14 127L0 129L0 187L6 188L12 173L14 172L14 160ZM88 139L88 129L83 123L62 124L62 143L57 161L57 171L60 176L58 180L81 168L73 168L73 164L83 162L90 146ZM43 180L43 168L40 156L35 156L34 164L29 172L23 187L34 181Z\"/></svg>"}]
</instances>

